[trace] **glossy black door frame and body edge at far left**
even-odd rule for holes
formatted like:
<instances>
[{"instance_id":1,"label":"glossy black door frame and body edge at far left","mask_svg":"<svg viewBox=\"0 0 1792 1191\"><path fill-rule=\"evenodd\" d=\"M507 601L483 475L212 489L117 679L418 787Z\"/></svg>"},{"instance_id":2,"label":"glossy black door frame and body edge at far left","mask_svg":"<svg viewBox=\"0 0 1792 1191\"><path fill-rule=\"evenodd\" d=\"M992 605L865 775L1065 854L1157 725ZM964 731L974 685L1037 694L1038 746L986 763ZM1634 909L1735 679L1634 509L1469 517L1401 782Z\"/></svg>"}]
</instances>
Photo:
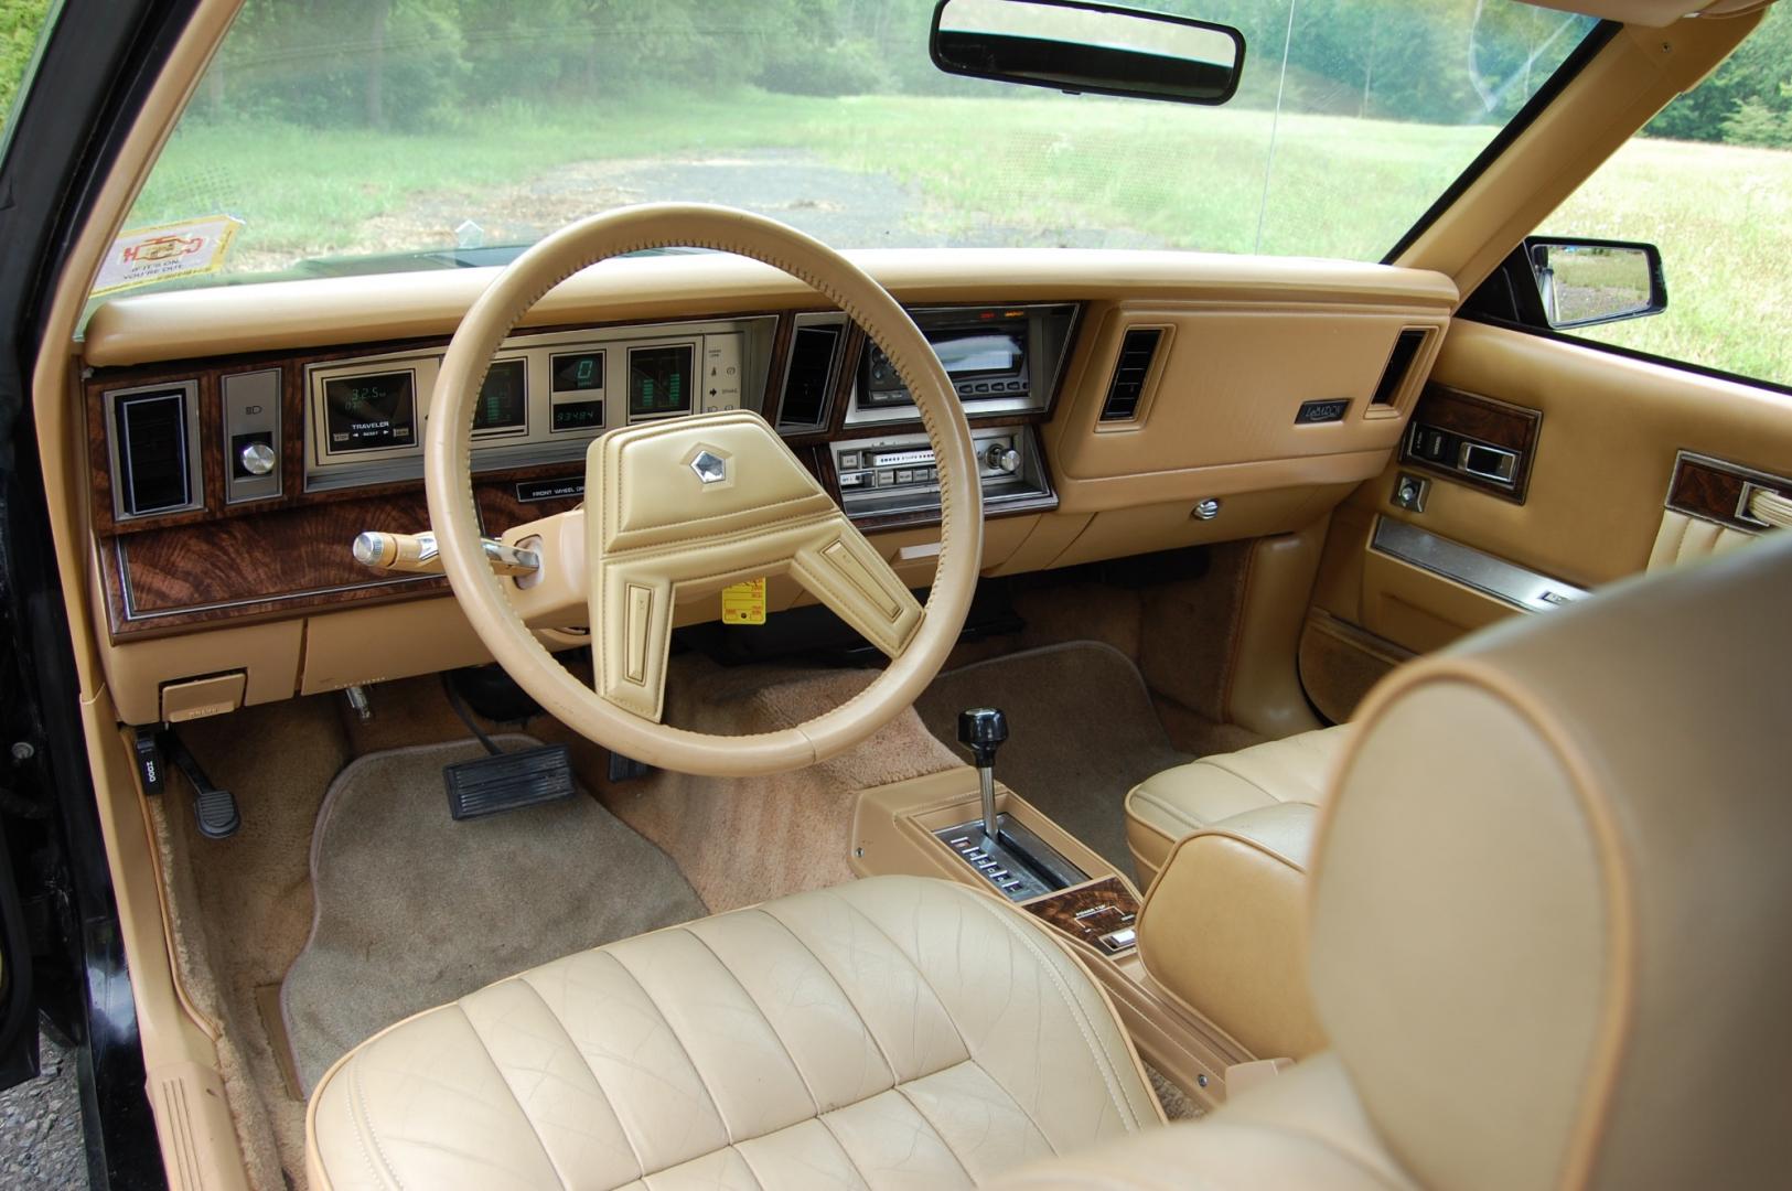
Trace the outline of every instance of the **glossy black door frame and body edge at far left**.
<instances>
[{"instance_id":1,"label":"glossy black door frame and body edge at far left","mask_svg":"<svg viewBox=\"0 0 1792 1191\"><path fill-rule=\"evenodd\" d=\"M65 0L18 97L0 163L0 632L13 668L0 675L13 688L0 725L0 756L11 761L0 815L36 953L9 958L30 964L38 1008L77 1046L95 1187L167 1184L88 768L29 378L70 245L192 13L190 0ZM5 1058L23 1058L23 1069L36 1062L18 1050Z\"/></svg>"}]
</instances>

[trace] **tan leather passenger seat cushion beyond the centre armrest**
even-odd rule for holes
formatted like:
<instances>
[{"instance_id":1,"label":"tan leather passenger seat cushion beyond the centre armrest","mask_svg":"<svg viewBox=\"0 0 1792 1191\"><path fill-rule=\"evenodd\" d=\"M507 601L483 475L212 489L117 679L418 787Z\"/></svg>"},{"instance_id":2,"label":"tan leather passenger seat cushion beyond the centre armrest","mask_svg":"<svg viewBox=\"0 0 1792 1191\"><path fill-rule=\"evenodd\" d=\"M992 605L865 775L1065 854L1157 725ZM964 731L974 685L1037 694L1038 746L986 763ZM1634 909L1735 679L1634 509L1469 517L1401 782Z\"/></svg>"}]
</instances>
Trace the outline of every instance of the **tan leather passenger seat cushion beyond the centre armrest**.
<instances>
[{"instance_id":1,"label":"tan leather passenger seat cushion beyond the centre armrest","mask_svg":"<svg viewBox=\"0 0 1792 1191\"><path fill-rule=\"evenodd\" d=\"M1125 795L1125 836L1150 885L1177 840L1283 802L1319 806L1351 727L1324 727L1167 768Z\"/></svg>"}]
</instances>

